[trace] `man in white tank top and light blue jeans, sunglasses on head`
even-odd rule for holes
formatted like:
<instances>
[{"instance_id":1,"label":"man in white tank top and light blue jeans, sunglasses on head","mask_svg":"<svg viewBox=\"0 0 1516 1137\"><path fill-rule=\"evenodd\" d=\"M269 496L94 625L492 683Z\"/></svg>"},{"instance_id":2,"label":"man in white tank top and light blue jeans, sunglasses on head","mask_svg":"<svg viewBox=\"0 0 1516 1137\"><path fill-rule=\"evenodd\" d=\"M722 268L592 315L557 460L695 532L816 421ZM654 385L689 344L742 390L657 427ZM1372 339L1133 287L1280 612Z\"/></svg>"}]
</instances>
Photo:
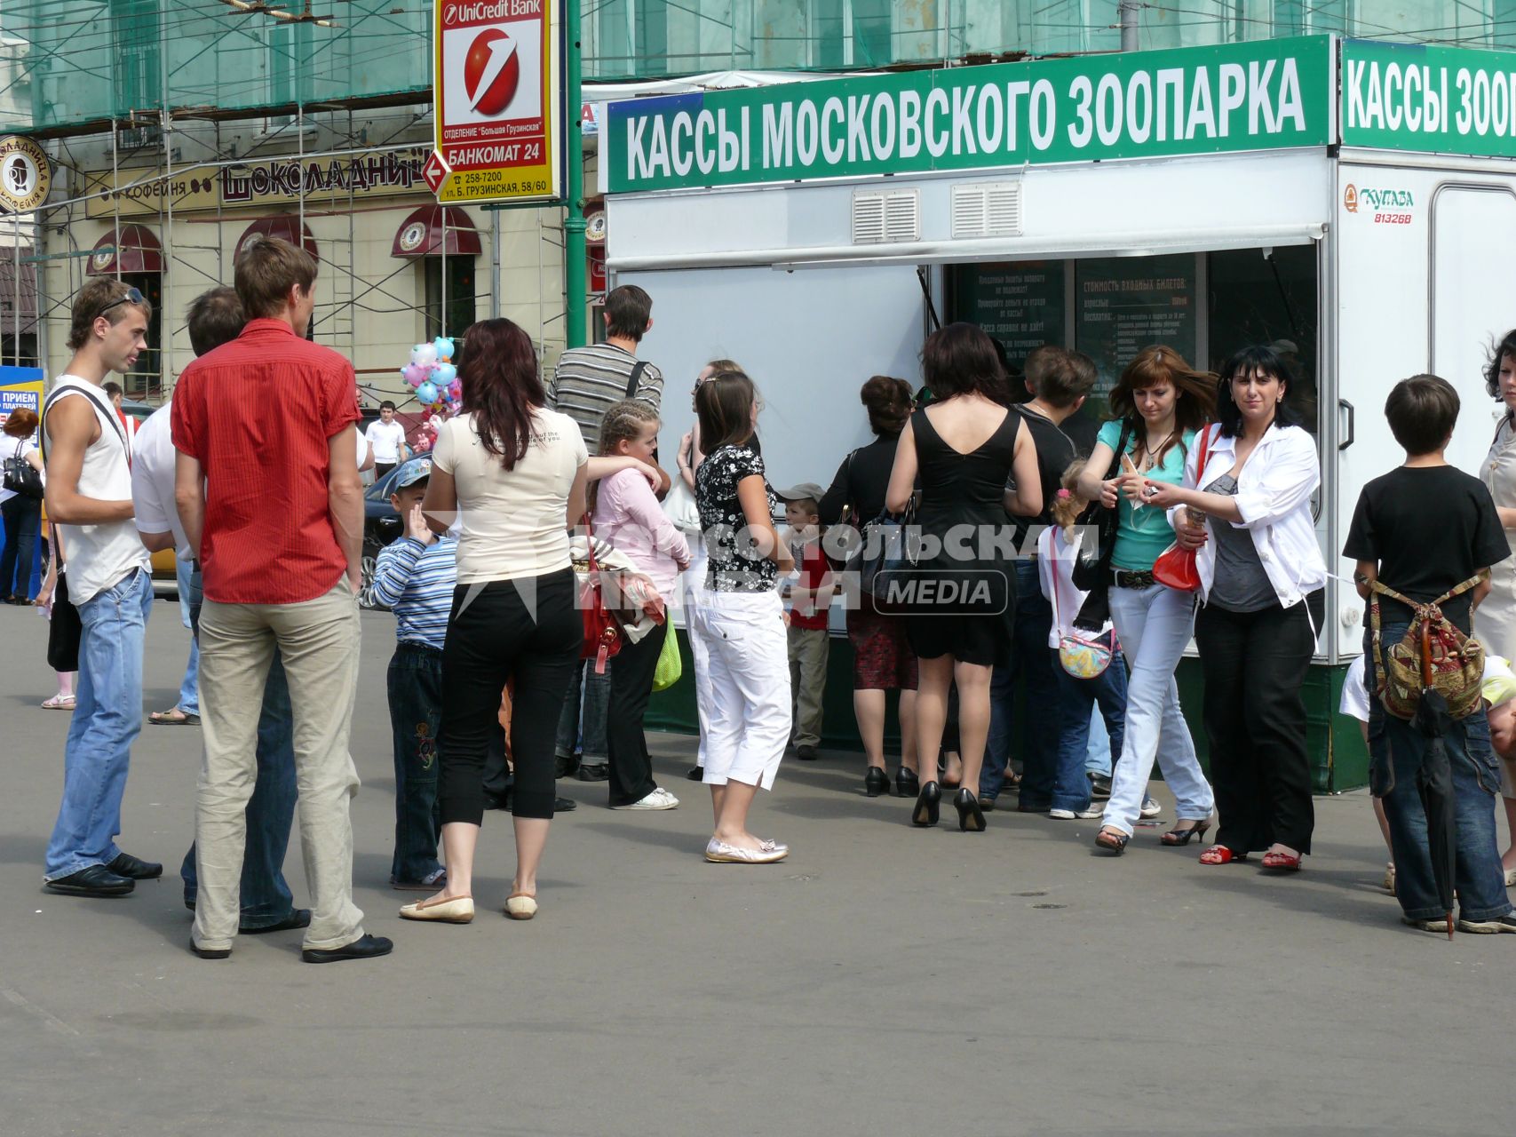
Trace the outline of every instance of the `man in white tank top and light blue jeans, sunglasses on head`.
<instances>
[{"instance_id":1,"label":"man in white tank top and light blue jeans, sunglasses on head","mask_svg":"<svg viewBox=\"0 0 1516 1137\"><path fill-rule=\"evenodd\" d=\"M124 896L162 875L115 844L132 740L143 728L143 640L153 602L149 556L132 523L130 434L102 384L147 346L152 306L120 280L74 299L74 356L42 408L47 517L68 549L79 609L79 691L64 747L64 800L42 870L49 891Z\"/></svg>"}]
</instances>

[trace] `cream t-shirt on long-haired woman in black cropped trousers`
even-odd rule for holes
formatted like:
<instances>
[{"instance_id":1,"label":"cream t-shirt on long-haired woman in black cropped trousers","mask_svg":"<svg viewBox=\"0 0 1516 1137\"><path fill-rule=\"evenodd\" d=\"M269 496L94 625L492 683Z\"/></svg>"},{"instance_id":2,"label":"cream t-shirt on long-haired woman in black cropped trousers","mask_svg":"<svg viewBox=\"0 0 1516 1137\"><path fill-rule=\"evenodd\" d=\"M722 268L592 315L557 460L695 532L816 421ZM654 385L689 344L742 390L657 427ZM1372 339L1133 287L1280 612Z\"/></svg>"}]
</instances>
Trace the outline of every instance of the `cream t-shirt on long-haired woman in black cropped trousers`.
<instances>
[{"instance_id":1,"label":"cream t-shirt on long-haired woman in black cropped trousers","mask_svg":"<svg viewBox=\"0 0 1516 1137\"><path fill-rule=\"evenodd\" d=\"M532 440L514 470L484 449L475 415L443 423L432 467L458 487L458 582L544 576L568 567L568 491L590 461L579 426L540 409Z\"/></svg>"}]
</instances>

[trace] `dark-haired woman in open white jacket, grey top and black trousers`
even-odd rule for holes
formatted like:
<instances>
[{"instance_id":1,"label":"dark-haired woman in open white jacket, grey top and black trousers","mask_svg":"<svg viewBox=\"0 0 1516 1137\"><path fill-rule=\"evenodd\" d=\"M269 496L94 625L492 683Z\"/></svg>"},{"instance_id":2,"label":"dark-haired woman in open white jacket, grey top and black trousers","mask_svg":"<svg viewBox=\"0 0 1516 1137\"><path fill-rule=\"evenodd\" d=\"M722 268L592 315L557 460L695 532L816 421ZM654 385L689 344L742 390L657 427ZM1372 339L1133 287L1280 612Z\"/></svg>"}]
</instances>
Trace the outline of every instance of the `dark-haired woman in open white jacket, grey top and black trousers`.
<instances>
[{"instance_id":1,"label":"dark-haired woman in open white jacket, grey top and black trousers","mask_svg":"<svg viewBox=\"0 0 1516 1137\"><path fill-rule=\"evenodd\" d=\"M1320 465L1290 403L1293 385L1272 349L1237 352L1222 370L1216 423L1192 447L1184 484L1152 481L1140 491L1169 511L1184 547L1199 549L1204 606L1195 643L1220 813L1216 844L1201 864L1263 852L1264 869L1293 872L1311 850L1301 684L1316 652L1326 562L1311 518ZM1208 817L1192 825L1198 835L1207 828ZM1189 841L1178 832L1184 840L1166 835L1166 843Z\"/></svg>"}]
</instances>

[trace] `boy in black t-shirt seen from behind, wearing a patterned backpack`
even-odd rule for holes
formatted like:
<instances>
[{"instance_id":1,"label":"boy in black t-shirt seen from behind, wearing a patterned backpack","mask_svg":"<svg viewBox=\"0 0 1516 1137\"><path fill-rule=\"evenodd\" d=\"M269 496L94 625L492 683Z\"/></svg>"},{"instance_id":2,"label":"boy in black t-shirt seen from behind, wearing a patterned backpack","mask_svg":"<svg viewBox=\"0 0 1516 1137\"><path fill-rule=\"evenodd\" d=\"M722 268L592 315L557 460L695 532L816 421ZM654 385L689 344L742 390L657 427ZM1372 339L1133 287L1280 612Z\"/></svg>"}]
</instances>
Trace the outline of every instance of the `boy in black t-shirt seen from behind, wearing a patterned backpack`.
<instances>
[{"instance_id":1,"label":"boy in black t-shirt seen from behind, wearing a patterned backpack","mask_svg":"<svg viewBox=\"0 0 1516 1137\"><path fill-rule=\"evenodd\" d=\"M1511 550L1490 491L1443 458L1458 420L1458 393L1452 385L1433 374L1405 379L1390 391L1384 417L1395 441L1405 447L1405 464L1363 487L1342 555L1358 562L1354 579L1364 600L1370 599L1369 582L1383 579L1395 591L1425 603L1472 576L1487 575ZM1469 634L1472 606L1489 588L1486 579L1472 594L1449 600L1443 615ZM1389 653L1405 635L1411 611L1389 597L1381 597L1380 611L1381 647ZM1372 652L1372 631L1366 628L1370 691L1377 684ZM1495 843L1501 773L1490 749L1489 720L1484 714L1469 714L1452 723L1443 743L1457 796L1458 929L1516 932ZM1373 796L1384 800L1390 822L1395 897L1405 923L1440 932L1446 925L1431 873L1427 814L1416 791L1416 772L1427 746L1428 740L1410 722L1387 714L1378 699L1369 700L1369 784Z\"/></svg>"}]
</instances>

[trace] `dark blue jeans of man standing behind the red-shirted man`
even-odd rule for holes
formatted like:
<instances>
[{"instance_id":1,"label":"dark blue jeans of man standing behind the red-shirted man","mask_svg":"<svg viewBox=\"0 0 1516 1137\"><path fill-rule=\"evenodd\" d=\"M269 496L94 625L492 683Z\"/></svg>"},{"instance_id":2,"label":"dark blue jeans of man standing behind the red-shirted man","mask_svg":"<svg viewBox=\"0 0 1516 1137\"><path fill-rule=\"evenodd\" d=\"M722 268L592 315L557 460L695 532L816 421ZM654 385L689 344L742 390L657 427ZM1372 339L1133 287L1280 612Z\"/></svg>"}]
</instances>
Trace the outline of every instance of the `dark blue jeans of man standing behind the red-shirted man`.
<instances>
[{"instance_id":1,"label":"dark blue jeans of man standing behind the red-shirted man","mask_svg":"<svg viewBox=\"0 0 1516 1137\"><path fill-rule=\"evenodd\" d=\"M200 573L180 596L190 596L190 619L200 623ZM299 797L294 778L294 709L290 705L290 681L285 678L279 652L268 667L264 705L258 719L258 781L247 802L247 852L243 857L241 913L244 931L268 928L294 911L294 896L283 875L285 850L294 825L294 803ZM185 905L194 907L199 882L194 869L194 844L179 867L185 882Z\"/></svg>"}]
</instances>

